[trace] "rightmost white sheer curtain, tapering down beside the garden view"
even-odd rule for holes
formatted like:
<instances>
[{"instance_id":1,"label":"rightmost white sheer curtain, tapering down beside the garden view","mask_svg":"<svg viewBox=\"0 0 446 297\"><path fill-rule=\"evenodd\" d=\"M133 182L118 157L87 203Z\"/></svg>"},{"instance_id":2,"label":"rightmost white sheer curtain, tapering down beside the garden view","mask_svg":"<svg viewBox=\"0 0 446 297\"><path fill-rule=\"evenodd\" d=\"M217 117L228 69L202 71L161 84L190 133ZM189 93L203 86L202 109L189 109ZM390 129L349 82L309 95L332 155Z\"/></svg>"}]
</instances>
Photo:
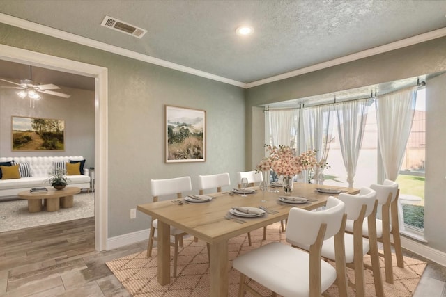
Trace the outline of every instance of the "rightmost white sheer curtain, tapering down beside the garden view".
<instances>
[{"instance_id":1,"label":"rightmost white sheer curtain, tapering down beside the garden view","mask_svg":"<svg viewBox=\"0 0 446 297\"><path fill-rule=\"evenodd\" d=\"M395 180L403 162L412 128L417 87L405 88L376 99L378 144L387 179Z\"/></svg>"}]
</instances>

